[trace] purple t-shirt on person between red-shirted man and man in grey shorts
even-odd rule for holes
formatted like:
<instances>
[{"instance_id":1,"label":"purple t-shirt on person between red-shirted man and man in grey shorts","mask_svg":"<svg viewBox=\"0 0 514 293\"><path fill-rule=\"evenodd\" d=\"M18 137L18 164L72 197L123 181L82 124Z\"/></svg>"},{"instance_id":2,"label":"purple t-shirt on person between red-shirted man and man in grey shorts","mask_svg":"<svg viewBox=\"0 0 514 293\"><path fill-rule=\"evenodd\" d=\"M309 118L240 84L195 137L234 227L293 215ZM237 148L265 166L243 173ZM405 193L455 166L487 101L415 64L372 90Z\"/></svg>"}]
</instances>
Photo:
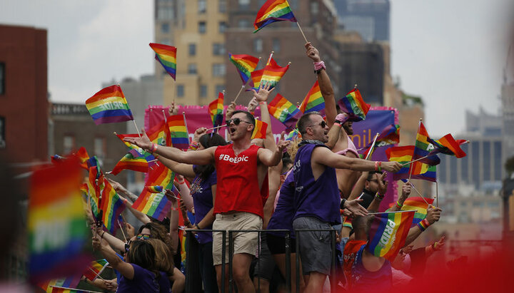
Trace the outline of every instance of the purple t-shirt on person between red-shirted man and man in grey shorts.
<instances>
[{"instance_id":1,"label":"purple t-shirt on person between red-shirted man and man in grey shorts","mask_svg":"<svg viewBox=\"0 0 514 293\"><path fill-rule=\"evenodd\" d=\"M275 212L271 215L271 219L268 222L268 230L289 230L293 232L293 216L295 214L295 208L293 205L294 197L294 175L293 172L289 173L284 180L284 183L280 189L280 197L278 197L277 206ZM273 235L286 237L284 232L268 232ZM291 233L291 237L294 237L294 232Z\"/></svg>"}]
</instances>

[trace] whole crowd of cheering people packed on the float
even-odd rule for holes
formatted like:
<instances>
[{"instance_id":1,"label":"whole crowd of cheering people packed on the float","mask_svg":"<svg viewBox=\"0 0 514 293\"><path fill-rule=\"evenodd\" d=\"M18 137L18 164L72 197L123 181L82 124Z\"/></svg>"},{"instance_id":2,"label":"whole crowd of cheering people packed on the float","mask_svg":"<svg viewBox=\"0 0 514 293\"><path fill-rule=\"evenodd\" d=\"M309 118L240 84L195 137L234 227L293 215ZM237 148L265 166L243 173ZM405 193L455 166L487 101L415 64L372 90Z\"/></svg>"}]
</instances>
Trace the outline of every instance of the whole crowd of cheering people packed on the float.
<instances>
[{"instance_id":1,"label":"whole crowd of cheering people packed on the float","mask_svg":"<svg viewBox=\"0 0 514 293\"><path fill-rule=\"evenodd\" d=\"M184 292L190 278L191 292L221 292L222 287L238 292L322 292L331 279L338 292L360 292L388 291L423 275L425 260L443 247L444 237L428 247L414 249L411 243L439 220L440 208L430 205L423 225L410 228L394 262L366 250L373 220L368 213L378 211L388 189L385 173L394 173L401 165L359 158L349 136L353 122L336 106L326 67L311 43L306 43L306 55L318 69L326 116L318 112L301 116L297 123L301 135L292 141L285 140L284 133L278 142L273 138L266 104L274 88L269 84L253 91L248 110L236 110L235 103L228 106L229 142L207 128L195 131L186 152L152 143L144 133L125 138L173 170L181 198L169 196L170 215L158 221L133 209L137 196L109 180L142 225L136 230L125 223L127 242L94 228L94 250L116 271L116 279L97 278L91 284L116 292ZM266 138L252 140L257 106L269 127ZM172 105L170 111L174 110ZM409 195L407 183L392 210L400 209ZM189 215L194 215L194 222ZM179 217L184 227L178 227ZM188 241L187 275L181 271L180 229L194 236ZM222 230L262 232L233 232L231 239L225 233L223 242ZM286 264L286 242L290 264ZM284 282L288 272L290 288Z\"/></svg>"}]
</instances>

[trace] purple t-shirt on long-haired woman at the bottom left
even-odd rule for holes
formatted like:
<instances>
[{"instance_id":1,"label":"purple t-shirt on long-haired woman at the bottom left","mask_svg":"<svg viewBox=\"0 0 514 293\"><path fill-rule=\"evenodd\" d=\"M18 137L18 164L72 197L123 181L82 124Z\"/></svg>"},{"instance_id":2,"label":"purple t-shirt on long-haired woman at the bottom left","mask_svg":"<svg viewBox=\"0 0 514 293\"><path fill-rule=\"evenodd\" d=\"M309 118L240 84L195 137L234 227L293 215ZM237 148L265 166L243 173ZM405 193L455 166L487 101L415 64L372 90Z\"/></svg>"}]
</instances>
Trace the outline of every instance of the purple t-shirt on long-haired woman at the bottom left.
<instances>
[{"instance_id":1,"label":"purple t-shirt on long-haired woman at the bottom left","mask_svg":"<svg viewBox=\"0 0 514 293\"><path fill-rule=\"evenodd\" d=\"M149 271L148 269L143 269L137 264L131 264L131 266L134 269L133 279L127 279L126 277L121 276L116 292L163 292L160 289L161 282L159 282L153 272Z\"/></svg>"}]
</instances>

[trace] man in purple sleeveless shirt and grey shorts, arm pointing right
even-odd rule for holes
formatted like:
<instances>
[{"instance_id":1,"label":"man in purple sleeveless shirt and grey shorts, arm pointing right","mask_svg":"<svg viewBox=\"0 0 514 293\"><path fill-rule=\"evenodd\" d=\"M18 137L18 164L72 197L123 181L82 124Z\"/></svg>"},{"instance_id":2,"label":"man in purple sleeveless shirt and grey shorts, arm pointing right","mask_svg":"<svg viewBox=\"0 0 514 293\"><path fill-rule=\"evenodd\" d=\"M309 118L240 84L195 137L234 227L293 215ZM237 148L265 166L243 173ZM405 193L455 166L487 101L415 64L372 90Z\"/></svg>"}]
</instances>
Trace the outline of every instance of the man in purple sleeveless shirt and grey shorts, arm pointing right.
<instances>
[{"instance_id":1,"label":"man in purple sleeveless shirt and grey shorts, arm pointing right","mask_svg":"<svg viewBox=\"0 0 514 293\"><path fill-rule=\"evenodd\" d=\"M339 115L335 124L341 127L347 116ZM328 125L317 112L306 113L298 120L302 135L293 166L295 179L293 217L295 230L331 230L331 225L341 223L335 168L359 171L383 169L397 172L398 162L372 162L337 155L324 145L328 142ZM359 200L343 202L344 207L356 215L366 215ZM300 245L303 274L306 275L306 292L321 292L331 269L330 232L296 233Z\"/></svg>"}]
</instances>

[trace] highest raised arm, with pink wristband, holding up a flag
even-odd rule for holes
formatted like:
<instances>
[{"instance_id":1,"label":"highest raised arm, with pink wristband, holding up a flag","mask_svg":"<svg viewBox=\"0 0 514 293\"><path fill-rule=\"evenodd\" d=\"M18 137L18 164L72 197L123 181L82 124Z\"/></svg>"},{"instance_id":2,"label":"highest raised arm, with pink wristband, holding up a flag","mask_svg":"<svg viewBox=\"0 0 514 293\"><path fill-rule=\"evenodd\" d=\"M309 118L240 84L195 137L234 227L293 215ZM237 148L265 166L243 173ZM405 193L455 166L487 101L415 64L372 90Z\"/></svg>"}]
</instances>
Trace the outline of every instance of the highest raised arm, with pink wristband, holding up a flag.
<instances>
[{"instance_id":1,"label":"highest raised arm, with pink wristband, holding up a flag","mask_svg":"<svg viewBox=\"0 0 514 293\"><path fill-rule=\"evenodd\" d=\"M308 58L311 58L314 63L321 62L319 51L312 45L312 43L306 43L305 47L307 49ZM328 74L326 73L325 68L322 68L318 71L318 83L320 86L321 95L325 101L325 114L328 127L331 127L337 115L336 97L334 96L332 83L328 77Z\"/></svg>"}]
</instances>

